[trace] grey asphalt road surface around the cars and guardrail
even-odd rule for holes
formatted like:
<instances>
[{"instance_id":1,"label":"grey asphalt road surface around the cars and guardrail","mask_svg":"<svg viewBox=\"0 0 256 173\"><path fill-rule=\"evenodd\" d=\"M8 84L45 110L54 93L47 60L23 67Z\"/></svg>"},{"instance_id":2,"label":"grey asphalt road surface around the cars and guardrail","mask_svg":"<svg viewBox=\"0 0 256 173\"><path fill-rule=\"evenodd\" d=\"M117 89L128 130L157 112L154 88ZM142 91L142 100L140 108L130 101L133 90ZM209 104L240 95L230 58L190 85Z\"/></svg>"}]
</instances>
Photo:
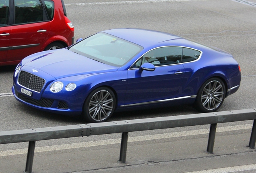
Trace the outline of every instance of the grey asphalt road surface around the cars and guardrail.
<instances>
[{"instance_id":1,"label":"grey asphalt road surface around the cars and guardrail","mask_svg":"<svg viewBox=\"0 0 256 173\"><path fill-rule=\"evenodd\" d=\"M219 111L256 108L256 0L64 0L75 37L110 28L147 28L177 34L233 54L241 87ZM241 3L244 2L244 3ZM0 67L0 131L75 125L77 117L45 113L11 95L15 66ZM109 121L198 113L191 106L115 113ZM209 126L129 133L126 163L119 163L121 134L38 141L33 171L252 173L256 151L246 145L252 122L218 124L214 154L205 153ZM185 134L185 135L184 135ZM0 173L25 170L27 143L0 145ZM245 166L243 166L245 165ZM199 172L196 172L199 173Z\"/></svg>"}]
</instances>

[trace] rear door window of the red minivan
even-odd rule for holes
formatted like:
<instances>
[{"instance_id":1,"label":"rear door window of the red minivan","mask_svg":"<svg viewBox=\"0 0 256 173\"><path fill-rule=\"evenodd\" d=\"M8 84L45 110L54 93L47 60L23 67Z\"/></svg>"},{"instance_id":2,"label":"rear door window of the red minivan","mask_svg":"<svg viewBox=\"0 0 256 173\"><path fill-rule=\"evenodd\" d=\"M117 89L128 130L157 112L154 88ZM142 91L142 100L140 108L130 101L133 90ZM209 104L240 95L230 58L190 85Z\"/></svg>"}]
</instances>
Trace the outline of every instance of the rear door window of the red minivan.
<instances>
[{"instance_id":1,"label":"rear door window of the red minivan","mask_svg":"<svg viewBox=\"0 0 256 173\"><path fill-rule=\"evenodd\" d=\"M43 21L43 6L39 0L14 0L14 24Z\"/></svg>"}]
</instances>

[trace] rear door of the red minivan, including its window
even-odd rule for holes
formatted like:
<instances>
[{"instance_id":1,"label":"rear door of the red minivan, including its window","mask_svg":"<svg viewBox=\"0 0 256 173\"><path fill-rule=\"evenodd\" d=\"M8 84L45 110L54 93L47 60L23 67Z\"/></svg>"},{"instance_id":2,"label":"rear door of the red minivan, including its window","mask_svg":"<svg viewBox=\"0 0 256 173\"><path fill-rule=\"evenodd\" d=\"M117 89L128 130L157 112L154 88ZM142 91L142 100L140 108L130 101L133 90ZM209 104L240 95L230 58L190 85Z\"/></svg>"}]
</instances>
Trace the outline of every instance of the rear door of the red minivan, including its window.
<instances>
[{"instance_id":1,"label":"rear door of the red minivan, including its window","mask_svg":"<svg viewBox=\"0 0 256 173\"><path fill-rule=\"evenodd\" d=\"M39 0L14 0L14 25L6 61L22 60L39 52L50 32L50 22Z\"/></svg>"}]
</instances>

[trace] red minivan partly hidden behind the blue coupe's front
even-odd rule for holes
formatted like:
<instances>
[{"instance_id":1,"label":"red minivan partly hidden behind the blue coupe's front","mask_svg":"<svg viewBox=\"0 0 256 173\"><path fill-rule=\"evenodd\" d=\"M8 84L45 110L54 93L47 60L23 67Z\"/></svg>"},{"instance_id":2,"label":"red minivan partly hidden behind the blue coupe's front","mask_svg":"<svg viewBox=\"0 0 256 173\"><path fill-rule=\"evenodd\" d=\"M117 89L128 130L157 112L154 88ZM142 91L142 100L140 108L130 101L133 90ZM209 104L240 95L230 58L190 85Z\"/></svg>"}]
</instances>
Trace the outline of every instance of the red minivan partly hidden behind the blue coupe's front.
<instances>
[{"instance_id":1,"label":"red minivan partly hidden behind the blue coupe's front","mask_svg":"<svg viewBox=\"0 0 256 173\"><path fill-rule=\"evenodd\" d=\"M0 66L73 43L63 0L0 0Z\"/></svg>"}]
</instances>

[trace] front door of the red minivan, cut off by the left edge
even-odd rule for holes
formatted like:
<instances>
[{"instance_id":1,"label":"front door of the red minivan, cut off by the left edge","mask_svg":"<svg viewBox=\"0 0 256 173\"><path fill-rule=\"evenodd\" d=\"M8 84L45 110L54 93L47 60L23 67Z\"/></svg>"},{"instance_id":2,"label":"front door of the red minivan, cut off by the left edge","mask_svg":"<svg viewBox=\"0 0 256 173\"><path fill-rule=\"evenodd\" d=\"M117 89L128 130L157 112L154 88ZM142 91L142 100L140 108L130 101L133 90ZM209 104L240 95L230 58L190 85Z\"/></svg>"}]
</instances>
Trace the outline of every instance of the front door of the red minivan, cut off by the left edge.
<instances>
[{"instance_id":1,"label":"front door of the red minivan, cut off by the left edge","mask_svg":"<svg viewBox=\"0 0 256 173\"><path fill-rule=\"evenodd\" d=\"M8 26L9 1L0 0L0 63L6 59L11 27Z\"/></svg>"}]
</instances>

